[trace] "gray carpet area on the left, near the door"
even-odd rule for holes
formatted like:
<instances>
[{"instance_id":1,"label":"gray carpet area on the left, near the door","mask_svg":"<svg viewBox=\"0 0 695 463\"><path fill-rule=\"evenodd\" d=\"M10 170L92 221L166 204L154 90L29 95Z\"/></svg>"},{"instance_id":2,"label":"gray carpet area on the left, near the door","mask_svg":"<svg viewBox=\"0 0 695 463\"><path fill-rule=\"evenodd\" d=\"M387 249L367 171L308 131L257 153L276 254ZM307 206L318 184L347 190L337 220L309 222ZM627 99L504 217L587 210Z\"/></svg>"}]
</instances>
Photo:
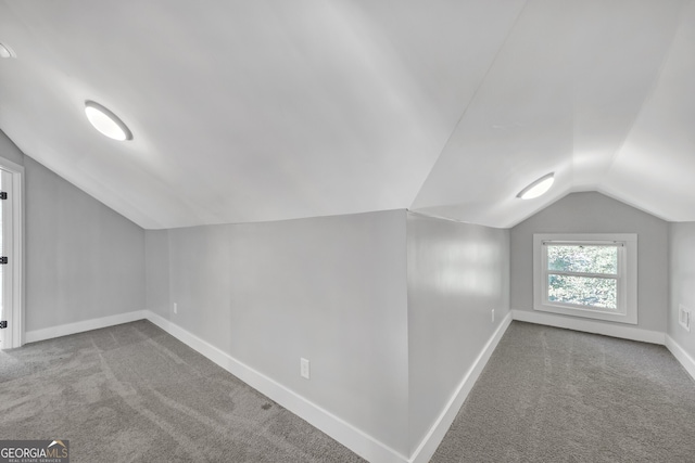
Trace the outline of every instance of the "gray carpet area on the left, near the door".
<instances>
[{"instance_id":1,"label":"gray carpet area on the left, near the door","mask_svg":"<svg viewBox=\"0 0 695 463\"><path fill-rule=\"evenodd\" d=\"M147 321L0 352L0 439L78 462L363 462Z\"/></svg>"}]
</instances>

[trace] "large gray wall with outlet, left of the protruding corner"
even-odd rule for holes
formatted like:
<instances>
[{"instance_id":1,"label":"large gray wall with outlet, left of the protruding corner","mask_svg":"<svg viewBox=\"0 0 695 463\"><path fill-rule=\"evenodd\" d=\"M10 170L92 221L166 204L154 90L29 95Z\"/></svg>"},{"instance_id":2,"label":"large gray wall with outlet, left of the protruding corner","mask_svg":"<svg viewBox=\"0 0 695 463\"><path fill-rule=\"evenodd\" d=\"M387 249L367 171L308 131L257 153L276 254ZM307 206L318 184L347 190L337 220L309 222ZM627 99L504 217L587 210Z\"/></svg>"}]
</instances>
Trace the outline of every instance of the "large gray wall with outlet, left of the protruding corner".
<instances>
[{"instance_id":1,"label":"large gray wall with outlet, left of the protruding corner","mask_svg":"<svg viewBox=\"0 0 695 463\"><path fill-rule=\"evenodd\" d=\"M148 301L178 304L166 313L177 325L407 454L405 221L400 210L148 232Z\"/></svg>"}]
</instances>

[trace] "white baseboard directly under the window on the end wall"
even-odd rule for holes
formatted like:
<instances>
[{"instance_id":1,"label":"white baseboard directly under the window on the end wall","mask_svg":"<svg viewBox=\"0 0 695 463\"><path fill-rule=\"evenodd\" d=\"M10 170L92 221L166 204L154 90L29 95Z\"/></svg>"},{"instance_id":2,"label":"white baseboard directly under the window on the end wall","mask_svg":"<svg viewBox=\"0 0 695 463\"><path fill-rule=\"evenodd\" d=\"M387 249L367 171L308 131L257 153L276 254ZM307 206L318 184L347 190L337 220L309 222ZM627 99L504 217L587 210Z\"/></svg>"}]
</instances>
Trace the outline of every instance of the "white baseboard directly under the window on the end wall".
<instances>
[{"instance_id":1,"label":"white baseboard directly under the window on the end wall","mask_svg":"<svg viewBox=\"0 0 695 463\"><path fill-rule=\"evenodd\" d=\"M552 313L529 310L511 310L511 317L514 320L519 320L521 322L565 327L568 330L620 337L623 339L641 340L643 343L666 344L666 333L659 331L642 330L634 326L622 326L612 323L602 323L593 320L559 317Z\"/></svg>"}]
</instances>

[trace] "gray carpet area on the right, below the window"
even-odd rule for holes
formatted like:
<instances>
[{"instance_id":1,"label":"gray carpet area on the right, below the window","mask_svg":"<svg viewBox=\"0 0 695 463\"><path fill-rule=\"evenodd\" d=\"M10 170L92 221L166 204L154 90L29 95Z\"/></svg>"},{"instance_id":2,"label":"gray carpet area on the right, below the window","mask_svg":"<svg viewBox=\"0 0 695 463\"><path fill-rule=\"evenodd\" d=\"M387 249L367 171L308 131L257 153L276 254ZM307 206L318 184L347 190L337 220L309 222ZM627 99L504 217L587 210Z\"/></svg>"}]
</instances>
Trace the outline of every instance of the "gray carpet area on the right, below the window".
<instances>
[{"instance_id":1,"label":"gray carpet area on the right, below the window","mask_svg":"<svg viewBox=\"0 0 695 463\"><path fill-rule=\"evenodd\" d=\"M513 322L431 462L695 462L695 382L662 346Z\"/></svg>"}]
</instances>

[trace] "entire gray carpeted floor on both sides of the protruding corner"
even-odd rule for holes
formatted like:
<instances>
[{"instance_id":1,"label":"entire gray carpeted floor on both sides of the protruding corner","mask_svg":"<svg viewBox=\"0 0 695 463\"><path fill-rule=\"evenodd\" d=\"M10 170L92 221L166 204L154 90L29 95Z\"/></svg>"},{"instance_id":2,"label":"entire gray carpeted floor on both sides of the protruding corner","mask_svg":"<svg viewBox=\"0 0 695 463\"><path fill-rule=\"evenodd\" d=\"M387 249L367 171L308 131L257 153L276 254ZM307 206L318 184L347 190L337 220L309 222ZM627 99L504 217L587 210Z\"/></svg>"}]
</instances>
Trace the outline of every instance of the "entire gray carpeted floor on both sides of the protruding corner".
<instances>
[{"instance_id":1,"label":"entire gray carpeted floor on both sides of the protruding corner","mask_svg":"<svg viewBox=\"0 0 695 463\"><path fill-rule=\"evenodd\" d=\"M693 462L695 382L662 346L513 322L432 463ZM0 439L73 462L363 462L140 321L0 352Z\"/></svg>"}]
</instances>

